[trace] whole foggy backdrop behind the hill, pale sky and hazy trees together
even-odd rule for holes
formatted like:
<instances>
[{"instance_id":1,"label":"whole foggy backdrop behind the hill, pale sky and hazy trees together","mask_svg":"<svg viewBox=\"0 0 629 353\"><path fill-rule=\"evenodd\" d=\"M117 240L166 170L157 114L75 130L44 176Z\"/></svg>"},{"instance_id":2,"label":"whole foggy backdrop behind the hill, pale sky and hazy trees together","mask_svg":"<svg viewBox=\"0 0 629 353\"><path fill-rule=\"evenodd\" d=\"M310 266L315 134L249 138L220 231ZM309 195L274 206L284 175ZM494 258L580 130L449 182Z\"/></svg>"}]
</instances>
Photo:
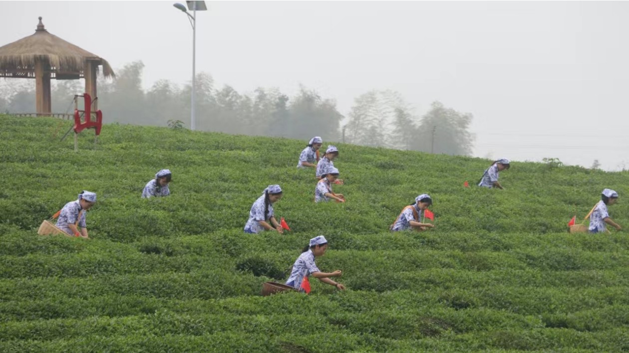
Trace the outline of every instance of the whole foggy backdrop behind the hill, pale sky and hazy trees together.
<instances>
[{"instance_id":1,"label":"whole foggy backdrop behind the hill, pale sky and hazy trees together","mask_svg":"<svg viewBox=\"0 0 629 353\"><path fill-rule=\"evenodd\" d=\"M43 16L114 68L117 80L99 79L105 122L189 127L192 29L172 3L3 1L0 46ZM198 129L305 144L340 141L345 126L348 143L629 168L627 2L206 5ZM53 111L65 112L83 82L58 83ZM0 79L0 111L34 112L34 85Z\"/></svg>"}]
</instances>

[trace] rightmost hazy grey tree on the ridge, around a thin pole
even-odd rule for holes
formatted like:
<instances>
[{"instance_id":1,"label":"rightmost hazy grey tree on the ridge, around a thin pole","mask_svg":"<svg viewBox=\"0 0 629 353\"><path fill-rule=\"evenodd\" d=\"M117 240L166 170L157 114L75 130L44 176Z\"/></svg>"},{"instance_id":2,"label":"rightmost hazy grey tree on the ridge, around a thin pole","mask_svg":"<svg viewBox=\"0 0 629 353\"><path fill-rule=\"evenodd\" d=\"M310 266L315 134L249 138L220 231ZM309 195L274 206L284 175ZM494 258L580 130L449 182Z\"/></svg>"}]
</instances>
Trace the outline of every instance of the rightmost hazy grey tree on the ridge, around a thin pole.
<instances>
[{"instance_id":1,"label":"rightmost hazy grey tree on the ridge, around a thin pole","mask_svg":"<svg viewBox=\"0 0 629 353\"><path fill-rule=\"evenodd\" d=\"M445 155L472 154L474 136L469 132L472 114L455 111L433 102L421 118L413 149Z\"/></svg>"}]
</instances>

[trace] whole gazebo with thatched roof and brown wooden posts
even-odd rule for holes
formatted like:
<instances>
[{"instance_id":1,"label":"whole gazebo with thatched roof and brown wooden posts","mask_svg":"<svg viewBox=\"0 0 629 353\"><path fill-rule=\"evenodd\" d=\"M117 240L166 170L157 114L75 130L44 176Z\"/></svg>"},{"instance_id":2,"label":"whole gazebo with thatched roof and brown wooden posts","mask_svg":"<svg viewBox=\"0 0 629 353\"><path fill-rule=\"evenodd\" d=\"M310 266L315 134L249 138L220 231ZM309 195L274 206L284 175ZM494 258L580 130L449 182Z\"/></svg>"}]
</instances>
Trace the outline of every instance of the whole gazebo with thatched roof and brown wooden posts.
<instances>
[{"instance_id":1,"label":"whole gazebo with thatched roof and brown wooden posts","mask_svg":"<svg viewBox=\"0 0 629 353\"><path fill-rule=\"evenodd\" d=\"M104 77L114 77L107 60L48 33L39 20L33 35L0 46L0 77L35 79L38 115L51 112L50 79L85 79L85 92L96 98L99 65Z\"/></svg>"}]
</instances>

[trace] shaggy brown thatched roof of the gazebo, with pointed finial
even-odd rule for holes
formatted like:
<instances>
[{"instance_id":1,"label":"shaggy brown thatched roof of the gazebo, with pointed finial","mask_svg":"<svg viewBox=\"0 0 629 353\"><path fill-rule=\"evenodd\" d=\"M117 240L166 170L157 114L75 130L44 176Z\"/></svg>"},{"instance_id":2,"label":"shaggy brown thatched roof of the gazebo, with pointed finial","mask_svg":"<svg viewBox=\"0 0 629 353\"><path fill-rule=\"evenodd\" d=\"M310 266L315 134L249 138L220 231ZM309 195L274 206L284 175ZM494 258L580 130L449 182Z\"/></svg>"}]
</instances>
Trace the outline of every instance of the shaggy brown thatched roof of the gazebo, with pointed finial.
<instances>
[{"instance_id":1,"label":"shaggy brown thatched roof of the gazebo, with pointed finial","mask_svg":"<svg viewBox=\"0 0 629 353\"><path fill-rule=\"evenodd\" d=\"M103 75L114 77L107 60L48 33L42 18L33 35L0 46L0 77L35 77L35 62L42 60L45 69L61 75L82 75L86 60L103 65Z\"/></svg>"}]
</instances>

